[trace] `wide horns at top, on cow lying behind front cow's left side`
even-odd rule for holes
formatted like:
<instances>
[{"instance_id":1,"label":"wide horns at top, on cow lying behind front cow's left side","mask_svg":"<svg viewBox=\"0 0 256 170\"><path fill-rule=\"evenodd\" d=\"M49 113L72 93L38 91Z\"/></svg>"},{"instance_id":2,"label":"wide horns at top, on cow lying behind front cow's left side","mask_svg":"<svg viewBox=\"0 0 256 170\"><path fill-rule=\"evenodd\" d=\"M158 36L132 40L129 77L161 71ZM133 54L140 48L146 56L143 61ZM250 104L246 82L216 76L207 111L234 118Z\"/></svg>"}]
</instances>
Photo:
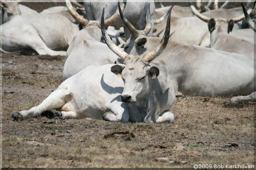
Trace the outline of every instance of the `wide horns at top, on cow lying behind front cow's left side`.
<instances>
[{"instance_id":1,"label":"wide horns at top, on cow lying behind front cow's left side","mask_svg":"<svg viewBox=\"0 0 256 170\"><path fill-rule=\"evenodd\" d=\"M80 14L78 14L75 10L75 8L73 8L70 0L65 0L66 2L66 6L68 11L70 12L71 16L73 18L76 19L76 21L78 23L80 23L81 25L83 25L83 27L85 27L90 21L88 19L83 18L82 16L80 16ZM122 7L121 10L124 10L126 6L126 2L122 3ZM114 23L117 19L119 18L119 12L116 11L115 14L113 14L110 18L107 18L105 20L105 25L110 26L112 23ZM96 25L98 25L100 27L100 22L99 21L95 21Z\"/></svg>"}]
</instances>

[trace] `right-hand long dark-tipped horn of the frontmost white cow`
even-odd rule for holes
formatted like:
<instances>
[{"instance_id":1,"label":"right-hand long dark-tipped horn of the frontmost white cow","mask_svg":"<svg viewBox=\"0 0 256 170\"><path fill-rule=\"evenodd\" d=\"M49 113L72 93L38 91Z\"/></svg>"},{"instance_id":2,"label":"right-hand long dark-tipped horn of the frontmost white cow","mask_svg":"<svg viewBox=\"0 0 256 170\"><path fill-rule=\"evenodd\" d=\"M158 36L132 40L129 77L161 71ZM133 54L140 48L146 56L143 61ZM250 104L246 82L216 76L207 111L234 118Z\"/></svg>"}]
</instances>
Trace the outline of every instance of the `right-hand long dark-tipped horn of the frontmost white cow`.
<instances>
[{"instance_id":1,"label":"right-hand long dark-tipped horn of the frontmost white cow","mask_svg":"<svg viewBox=\"0 0 256 170\"><path fill-rule=\"evenodd\" d=\"M169 35L170 35L170 24L171 24L171 9L173 9L173 7L174 6L171 6L171 8L169 9L168 20L165 27L165 33L164 33L163 39L161 40L161 43L157 46L155 50L152 50L150 53L139 56L139 57L142 57L143 61L150 62L155 58L157 58L157 56L159 56L164 51L166 45L168 44L169 37L170 37Z\"/></svg>"}]
</instances>

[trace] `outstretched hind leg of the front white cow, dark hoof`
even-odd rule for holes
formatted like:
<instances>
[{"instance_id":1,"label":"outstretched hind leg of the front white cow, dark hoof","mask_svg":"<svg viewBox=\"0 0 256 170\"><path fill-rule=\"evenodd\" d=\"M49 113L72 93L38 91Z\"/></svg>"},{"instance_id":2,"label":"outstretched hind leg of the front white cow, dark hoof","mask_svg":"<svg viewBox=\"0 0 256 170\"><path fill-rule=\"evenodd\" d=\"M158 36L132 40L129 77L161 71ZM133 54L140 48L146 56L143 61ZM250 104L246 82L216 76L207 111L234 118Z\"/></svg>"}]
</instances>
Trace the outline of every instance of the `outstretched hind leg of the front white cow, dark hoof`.
<instances>
[{"instance_id":1,"label":"outstretched hind leg of the front white cow, dark hoof","mask_svg":"<svg viewBox=\"0 0 256 170\"><path fill-rule=\"evenodd\" d=\"M12 117L14 120L23 120L29 117L41 115L42 112L47 110L59 109L66 103L65 99L69 95L70 92L68 92L67 89L57 89L53 91L45 100L43 100L40 105L32 107L30 110L15 112L12 114Z\"/></svg>"}]
</instances>

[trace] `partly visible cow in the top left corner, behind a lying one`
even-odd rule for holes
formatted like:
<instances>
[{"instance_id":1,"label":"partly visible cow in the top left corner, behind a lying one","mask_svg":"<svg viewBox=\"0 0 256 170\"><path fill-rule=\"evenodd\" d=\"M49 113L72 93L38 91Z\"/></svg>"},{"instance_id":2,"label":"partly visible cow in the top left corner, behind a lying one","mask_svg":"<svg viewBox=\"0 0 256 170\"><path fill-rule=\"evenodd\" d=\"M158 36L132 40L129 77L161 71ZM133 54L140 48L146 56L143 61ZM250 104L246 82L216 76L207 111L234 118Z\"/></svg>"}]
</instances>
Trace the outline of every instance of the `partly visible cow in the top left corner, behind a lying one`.
<instances>
[{"instance_id":1,"label":"partly visible cow in the top left corner, behind a lying one","mask_svg":"<svg viewBox=\"0 0 256 170\"><path fill-rule=\"evenodd\" d=\"M8 2L0 0L0 4L3 6L1 11L3 16L3 23L11 20L14 16L25 15L25 14L37 14L37 12L31 8L19 4L21 1ZM3 24L1 23L1 24Z\"/></svg>"}]
</instances>

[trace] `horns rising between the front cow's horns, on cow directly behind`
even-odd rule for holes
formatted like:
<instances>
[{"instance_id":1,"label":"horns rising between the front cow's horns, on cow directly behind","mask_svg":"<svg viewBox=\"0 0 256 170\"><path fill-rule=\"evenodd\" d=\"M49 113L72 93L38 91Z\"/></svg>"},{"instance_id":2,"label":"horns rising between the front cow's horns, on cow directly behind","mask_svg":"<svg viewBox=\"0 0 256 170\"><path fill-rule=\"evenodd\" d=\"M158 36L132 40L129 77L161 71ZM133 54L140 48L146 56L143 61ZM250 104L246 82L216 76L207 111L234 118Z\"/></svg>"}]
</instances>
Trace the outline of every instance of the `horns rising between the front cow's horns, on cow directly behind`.
<instances>
[{"instance_id":1,"label":"horns rising between the front cow's horns, on cow directly behind","mask_svg":"<svg viewBox=\"0 0 256 170\"><path fill-rule=\"evenodd\" d=\"M124 13L122 12L122 9L120 7L120 3L118 3L118 9L120 13L120 17L122 19L122 22L124 22L125 27L129 30L132 37L137 37L139 34L149 34L151 30L151 16L150 16L150 3L147 6L147 24L144 30L137 30L134 25L132 25L128 19L125 18Z\"/></svg>"}]
</instances>

